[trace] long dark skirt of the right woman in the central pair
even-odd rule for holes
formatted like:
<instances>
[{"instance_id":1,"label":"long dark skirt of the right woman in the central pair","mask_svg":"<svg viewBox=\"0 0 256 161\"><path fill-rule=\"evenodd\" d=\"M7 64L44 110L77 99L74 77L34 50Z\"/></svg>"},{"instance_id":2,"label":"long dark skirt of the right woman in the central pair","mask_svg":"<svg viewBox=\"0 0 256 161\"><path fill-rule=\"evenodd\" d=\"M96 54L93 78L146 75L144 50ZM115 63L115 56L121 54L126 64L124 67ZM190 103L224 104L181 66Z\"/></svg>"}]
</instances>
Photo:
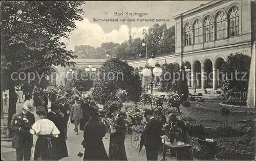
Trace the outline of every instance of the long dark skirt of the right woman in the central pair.
<instances>
[{"instance_id":1,"label":"long dark skirt of the right woman in the central pair","mask_svg":"<svg viewBox=\"0 0 256 161\"><path fill-rule=\"evenodd\" d=\"M124 133L112 133L110 135L109 160L127 160L124 140Z\"/></svg>"}]
</instances>

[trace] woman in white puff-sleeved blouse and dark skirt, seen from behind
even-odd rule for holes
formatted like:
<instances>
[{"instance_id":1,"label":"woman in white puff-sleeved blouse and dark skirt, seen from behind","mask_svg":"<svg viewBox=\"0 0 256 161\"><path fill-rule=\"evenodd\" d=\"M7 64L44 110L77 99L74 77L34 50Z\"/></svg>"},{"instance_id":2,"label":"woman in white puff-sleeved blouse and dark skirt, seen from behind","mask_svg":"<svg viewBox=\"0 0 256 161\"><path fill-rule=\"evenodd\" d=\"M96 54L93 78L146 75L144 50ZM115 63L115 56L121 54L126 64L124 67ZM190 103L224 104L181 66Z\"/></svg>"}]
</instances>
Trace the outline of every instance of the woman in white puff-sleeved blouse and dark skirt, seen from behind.
<instances>
[{"instance_id":1,"label":"woman in white puff-sleeved blouse and dark skirt, seen from behind","mask_svg":"<svg viewBox=\"0 0 256 161\"><path fill-rule=\"evenodd\" d=\"M40 120L36 121L30 129L30 133L36 135L38 139L35 145L34 160L56 160L56 142L60 133L55 124L48 120L46 110L43 106L39 106L36 114Z\"/></svg>"}]
</instances>

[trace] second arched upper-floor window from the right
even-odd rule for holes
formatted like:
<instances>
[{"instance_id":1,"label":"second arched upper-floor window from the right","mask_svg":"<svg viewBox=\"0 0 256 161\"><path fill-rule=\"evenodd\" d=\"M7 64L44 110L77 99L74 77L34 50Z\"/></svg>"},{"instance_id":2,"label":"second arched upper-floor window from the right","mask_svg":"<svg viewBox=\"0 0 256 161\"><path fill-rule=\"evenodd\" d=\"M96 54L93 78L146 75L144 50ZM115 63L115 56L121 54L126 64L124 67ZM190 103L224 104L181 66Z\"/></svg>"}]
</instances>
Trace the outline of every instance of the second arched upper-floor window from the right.
<instances>
[{"instance_id":1,"label":"second arched upper-floor window from the right","mask_svg":"<svg viewBox=\"0 0 256 161\"><path fill-rule=\"evenodd\" d=\"M224 13L221 11L218 13L216 17L216 38L217 40L219 39L224 39L226 38L227 34L227 27L226 27L226 22L225 22L226 16Z\"/></svg>"}]
</instances>

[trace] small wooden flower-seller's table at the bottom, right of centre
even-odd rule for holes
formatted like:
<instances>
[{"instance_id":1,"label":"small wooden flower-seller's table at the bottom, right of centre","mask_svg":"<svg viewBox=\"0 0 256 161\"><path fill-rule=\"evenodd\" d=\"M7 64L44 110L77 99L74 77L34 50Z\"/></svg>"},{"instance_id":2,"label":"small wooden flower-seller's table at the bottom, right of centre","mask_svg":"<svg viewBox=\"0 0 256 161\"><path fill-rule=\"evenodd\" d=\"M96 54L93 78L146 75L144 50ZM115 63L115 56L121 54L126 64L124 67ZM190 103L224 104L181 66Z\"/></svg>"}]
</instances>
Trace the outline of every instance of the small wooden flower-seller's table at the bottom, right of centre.
<instances>
[{"instance_id":1,"label":"small wooden flower-seller's table at the bottom, right of centre","mask_svg":"<svg viewBox=\"0 0 256 161\"><path fill-rule=\"evenodd\" d=\"M174 149L176 151L176 159L177 160L179 160L178 155L177 155L177 151L178 150L184 149L184 148L191 148L192 147L191 145L186 144L186 143L184 145L177 145L178 142L176 142L176 141L174 143L170 143L168 141L162 141L162 143L163 143L163 152L162 152L163 158L161 159L161 161L167 160L165 158L166 151L167 151L166 147L172 148L172 149Z\"/></svg>"}]
</instances>

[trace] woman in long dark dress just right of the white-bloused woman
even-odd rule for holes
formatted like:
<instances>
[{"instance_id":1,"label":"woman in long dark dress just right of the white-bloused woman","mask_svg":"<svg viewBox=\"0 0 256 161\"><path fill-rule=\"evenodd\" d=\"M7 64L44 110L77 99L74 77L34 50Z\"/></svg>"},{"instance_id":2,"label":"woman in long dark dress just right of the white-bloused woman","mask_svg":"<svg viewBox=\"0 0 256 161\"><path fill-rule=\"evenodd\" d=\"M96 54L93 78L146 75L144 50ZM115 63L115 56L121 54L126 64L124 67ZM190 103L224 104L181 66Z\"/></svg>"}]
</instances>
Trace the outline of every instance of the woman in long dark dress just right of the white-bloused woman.
<instances>
[{"instance_id":1,"label":"woman in long dark dress just right of the white-bloused woman","mask_svg":"<svg viewBox=\"0 0 256 161\"><path fill-rule=\"evenodd\" d=\"M56 138L57 144L57 159L68 157L68 148L65 138L65 124L63 124L64 115L60 111L59 103L54 102L51 104L51 112L47 114L47 118L51 120L59 129L59 137Z\"/></svg>"}]
</instances>

